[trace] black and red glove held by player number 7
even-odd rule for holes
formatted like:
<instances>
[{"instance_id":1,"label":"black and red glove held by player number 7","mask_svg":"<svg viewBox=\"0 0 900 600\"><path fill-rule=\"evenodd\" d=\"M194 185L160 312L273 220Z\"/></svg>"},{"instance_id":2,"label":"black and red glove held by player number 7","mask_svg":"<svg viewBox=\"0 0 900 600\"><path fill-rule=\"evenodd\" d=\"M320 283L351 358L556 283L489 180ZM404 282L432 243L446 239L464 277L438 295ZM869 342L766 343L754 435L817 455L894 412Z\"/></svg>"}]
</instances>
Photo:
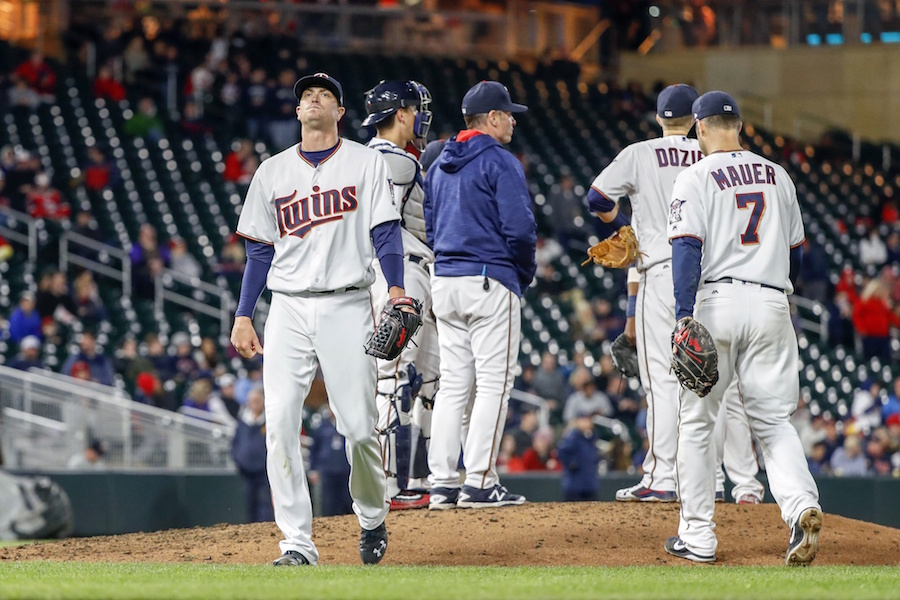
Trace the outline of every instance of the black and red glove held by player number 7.
<instances>
[{"instance_id":1,"label":"black and red glove held by player number 7","mask_svg":"<svg viewBox=\"0 0 900 600\"><path fill-rule=\"evenodd\" d=\"M681 387L701 398L719 381L719 355L709 331L691 317L682 317L672 332L672 369Z\"/></svg>"}]
</instances>

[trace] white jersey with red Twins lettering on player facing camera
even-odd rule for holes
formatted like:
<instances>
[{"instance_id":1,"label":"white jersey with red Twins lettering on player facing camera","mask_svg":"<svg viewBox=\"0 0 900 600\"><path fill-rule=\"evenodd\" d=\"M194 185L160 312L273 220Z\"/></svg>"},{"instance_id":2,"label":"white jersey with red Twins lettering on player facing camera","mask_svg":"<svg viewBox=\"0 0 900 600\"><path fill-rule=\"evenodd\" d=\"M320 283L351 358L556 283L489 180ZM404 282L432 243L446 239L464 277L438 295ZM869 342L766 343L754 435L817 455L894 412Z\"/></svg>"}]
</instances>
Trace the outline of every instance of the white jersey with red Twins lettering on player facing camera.
<instances>
[{"instance_id":1,"label":"white jersey with red Twins lettering on player facing camera","mask_svg":"<svg viewBox=\"0 0 900 600\"><path fill-rule=\"evenodd\" d=\"M238 234L275 246L266 281L272 291L368 287L375 281L371 230L400 218L381 153L340 139L314 167L299 150L296 144L259 166Z\"/></svg>"}]
</instances>

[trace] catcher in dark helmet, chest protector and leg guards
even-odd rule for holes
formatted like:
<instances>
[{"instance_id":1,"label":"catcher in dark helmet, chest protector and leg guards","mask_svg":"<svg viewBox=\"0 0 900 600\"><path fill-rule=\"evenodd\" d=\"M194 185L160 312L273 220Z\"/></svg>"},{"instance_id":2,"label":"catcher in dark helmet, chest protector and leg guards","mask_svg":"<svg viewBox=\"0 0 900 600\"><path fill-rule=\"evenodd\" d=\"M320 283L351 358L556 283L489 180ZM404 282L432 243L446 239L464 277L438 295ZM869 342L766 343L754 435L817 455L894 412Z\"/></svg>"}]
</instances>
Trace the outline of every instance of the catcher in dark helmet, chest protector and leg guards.
<instances>
[{"instance_id":1,"label":"catcher in dark helmet, chest protector and leg guards","mask_svg":"<svg viewBox=\"0 0 900 600\"><path fill-rule=\"evenodd\" d=\"M374 125L369 148L387 162L395 206L402 217L404 282L409 295L422 302L423 326L395 360L378 361L378 430L387 472L391 510L428 506L427 445L431 437L431 407L437 390L440 353L431 316L431 276L434 253L426 243L425 193L422 167L405 150L428 135L431 94L416 81L381 81L366 92L363 125ZM375 261L372 285L375 305L387 301L388 286Z\"/></svg>"}]
</instances>

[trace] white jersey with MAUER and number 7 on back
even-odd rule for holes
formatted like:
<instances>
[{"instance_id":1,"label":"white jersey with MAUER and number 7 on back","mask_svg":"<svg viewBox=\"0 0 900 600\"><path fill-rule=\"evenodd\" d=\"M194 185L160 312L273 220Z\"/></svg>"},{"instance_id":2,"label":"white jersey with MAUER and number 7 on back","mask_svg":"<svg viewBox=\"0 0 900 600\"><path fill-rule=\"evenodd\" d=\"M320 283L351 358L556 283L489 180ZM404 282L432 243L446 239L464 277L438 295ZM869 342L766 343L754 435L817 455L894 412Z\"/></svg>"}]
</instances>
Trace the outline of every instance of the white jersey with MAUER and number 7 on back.
<instances>
[{"instance_id":1,"label":"white jersey with MAUER and number 7 on back","mask_svg":"<svg viewBox=\"0 0 900 600\"><path fill-rule=\"evenodd\" d=\"M797 190L753 152L718 152L685 169L669 206L669 237L703 242L700 281L725 277L793 292L789 248L805 234Z\"/></svg>"}]
</instances>

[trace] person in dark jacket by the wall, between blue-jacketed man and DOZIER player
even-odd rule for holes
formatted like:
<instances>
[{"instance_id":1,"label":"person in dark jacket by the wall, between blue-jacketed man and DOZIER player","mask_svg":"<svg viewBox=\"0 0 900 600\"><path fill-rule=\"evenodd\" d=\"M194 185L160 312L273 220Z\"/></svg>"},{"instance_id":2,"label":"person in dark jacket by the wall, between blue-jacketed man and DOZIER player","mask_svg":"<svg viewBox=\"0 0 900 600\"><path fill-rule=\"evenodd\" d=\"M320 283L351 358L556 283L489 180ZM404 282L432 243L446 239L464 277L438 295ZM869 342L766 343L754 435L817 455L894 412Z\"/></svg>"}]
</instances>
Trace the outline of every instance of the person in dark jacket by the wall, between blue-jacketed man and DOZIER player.
<instances>
[{"instance_id":1,"label":"person in dark jacket by the wall, between blue-jacketed man and DOZIER player","mask_svg":"<svg viewBox=\"0 0 900 600\"><path fill-rule=\"evenodd\" d=\"M566 502L596 500L600 492L600 452L591 415L582 413L571 425L557 448L563 468L563 495Z\"/></svg>"}]
</instances>

